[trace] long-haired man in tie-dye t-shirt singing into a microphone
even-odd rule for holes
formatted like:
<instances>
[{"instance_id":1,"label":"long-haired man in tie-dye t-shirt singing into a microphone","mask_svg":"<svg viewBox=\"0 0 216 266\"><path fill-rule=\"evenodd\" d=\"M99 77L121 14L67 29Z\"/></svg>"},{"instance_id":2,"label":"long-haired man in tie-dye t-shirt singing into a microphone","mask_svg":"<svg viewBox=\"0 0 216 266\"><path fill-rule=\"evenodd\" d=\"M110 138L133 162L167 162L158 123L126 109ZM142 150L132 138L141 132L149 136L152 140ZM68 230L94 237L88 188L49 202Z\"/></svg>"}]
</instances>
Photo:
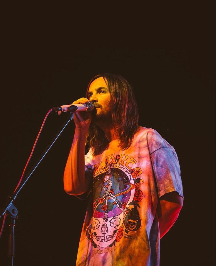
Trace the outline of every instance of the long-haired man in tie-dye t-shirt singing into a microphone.
<instances>
[{"instance_id":1,"label":"long-haired man in tie-dye t-shirt singing into a microphone","mask_svg":"<svg viewBox=\"0 0 216 266\"><path fill-rule=\"evenodd\" d=\"M160 238L183 204L178 157L160 134L138 126L130 84L100 74L89 83L92 113L75 112L64 189L89 197L76 265L159 265ZM85 154L85 144L90 149Z\"/></svg>"}]
</instances>

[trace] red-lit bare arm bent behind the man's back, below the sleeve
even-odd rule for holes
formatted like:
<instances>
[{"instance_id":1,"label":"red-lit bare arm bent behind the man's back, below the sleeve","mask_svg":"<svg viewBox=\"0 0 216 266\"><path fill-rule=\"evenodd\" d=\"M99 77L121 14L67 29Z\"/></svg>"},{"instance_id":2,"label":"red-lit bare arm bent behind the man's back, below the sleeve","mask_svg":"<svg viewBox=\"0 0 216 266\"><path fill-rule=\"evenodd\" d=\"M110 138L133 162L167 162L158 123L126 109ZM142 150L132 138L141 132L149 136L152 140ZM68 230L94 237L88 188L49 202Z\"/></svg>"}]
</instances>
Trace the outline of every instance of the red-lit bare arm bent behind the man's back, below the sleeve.
<instances>
[{"instance_id":1,"label":"red-lit bare arm bent behind the man's back, below the sleeve","mask_svg":"<svg viewBox=\"0 0 216 266\"><path fill-rule=\"evenodd\" d=\"M158 203L160 238L173 226L183 205L183 198L176 192L166 193Z\"/></svg>"}]
</instances>

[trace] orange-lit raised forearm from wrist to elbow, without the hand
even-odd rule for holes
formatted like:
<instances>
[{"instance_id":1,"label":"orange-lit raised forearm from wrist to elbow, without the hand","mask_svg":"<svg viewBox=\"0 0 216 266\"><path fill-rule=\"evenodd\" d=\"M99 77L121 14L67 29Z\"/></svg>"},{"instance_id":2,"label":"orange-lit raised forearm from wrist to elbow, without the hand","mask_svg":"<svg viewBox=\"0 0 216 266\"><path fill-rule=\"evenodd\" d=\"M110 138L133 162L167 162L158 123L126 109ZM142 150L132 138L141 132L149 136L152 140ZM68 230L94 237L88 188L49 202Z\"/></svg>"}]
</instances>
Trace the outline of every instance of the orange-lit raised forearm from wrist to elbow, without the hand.
<instances>
[{"instance_id":1,"label":"orange-lit raised forearm from wrist to elbow, without the hand","mask_svg":"<svg viewBox=\"0 0 216 266\"><path fill-rule=\"evenodd\" d=\"M88 189L85 180L85 129L76 128L64 171L64 190L71 195L80 195Z\"/></svg>"}]
</instances>

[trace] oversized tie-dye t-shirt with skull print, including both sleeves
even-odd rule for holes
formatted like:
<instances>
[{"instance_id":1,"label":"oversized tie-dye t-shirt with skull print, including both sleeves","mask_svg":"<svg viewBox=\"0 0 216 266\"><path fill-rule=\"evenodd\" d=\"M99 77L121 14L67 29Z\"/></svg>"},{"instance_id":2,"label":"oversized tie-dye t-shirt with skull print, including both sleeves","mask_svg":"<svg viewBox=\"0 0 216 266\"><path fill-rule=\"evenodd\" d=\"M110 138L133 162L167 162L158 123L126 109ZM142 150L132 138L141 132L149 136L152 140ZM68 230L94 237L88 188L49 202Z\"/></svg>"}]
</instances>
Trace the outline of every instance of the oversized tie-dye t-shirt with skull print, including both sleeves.
<instances>
[{"instance_id":1,"label":"oversized tie-dye t-shirt with skull print, including both sleeves","mask_svg":"<svg viewBox=\"0 0 216 266\"><path fill-rule=\"evenodd\" d=\"M139 127L127 150L109 143L102 154L85 155L90 190L76 266L159 265L158 200L183 197L174 148L160 134Z\"/></svg>"}]
</instances>

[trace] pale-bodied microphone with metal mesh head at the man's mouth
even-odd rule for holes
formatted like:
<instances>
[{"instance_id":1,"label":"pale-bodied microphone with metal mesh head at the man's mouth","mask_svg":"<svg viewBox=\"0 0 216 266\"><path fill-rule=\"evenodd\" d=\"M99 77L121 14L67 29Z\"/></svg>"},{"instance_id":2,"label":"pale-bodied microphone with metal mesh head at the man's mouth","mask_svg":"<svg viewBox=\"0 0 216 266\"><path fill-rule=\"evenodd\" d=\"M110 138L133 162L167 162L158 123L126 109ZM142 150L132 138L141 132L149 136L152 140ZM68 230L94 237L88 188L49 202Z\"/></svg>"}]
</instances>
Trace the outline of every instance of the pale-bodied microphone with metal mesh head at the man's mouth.
<instances>
[{"instance_id":1,"label":"pale-bodied microphone with metal mesh head at the man's mouth","mask_svg":"<svg viewBox=\"0 0 216 266\"><path fill-rule=\"evenodd\" d=\"M54 112L75 112L75 111L82 111L82 112L91 112L94 110L95 106L92 102L88 101L87 103L78 103L78 104L68 104L62 106L56 106L52 108Z\"/></svg>"}]
</instances>

